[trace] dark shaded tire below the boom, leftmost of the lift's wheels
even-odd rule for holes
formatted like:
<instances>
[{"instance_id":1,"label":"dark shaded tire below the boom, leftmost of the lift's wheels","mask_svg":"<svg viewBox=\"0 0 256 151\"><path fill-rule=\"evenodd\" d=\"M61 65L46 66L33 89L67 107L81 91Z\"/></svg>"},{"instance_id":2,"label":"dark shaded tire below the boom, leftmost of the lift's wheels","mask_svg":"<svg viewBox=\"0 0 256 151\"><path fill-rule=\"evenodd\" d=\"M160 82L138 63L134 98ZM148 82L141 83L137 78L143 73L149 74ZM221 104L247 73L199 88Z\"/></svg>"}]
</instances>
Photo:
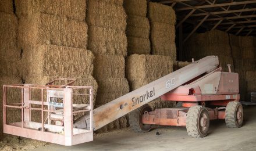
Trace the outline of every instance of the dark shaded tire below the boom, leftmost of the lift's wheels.
<instances>
[{"instance_id":1,"label":"dark shaded tire below the boom, leftmost of the lift's wheels","mask_svg":"<svg viewBox=\"0 0 256 151\"><path fill-rule=\"evenodd\" d=\"M151 130L152 128L151 124L142 123L142 116L145 111L151 112L152 109L149 105L143 105L138 109L133 110L129 114L130 129L133 130L134 132L148 132Z\"/></svg>"}]
</instances>

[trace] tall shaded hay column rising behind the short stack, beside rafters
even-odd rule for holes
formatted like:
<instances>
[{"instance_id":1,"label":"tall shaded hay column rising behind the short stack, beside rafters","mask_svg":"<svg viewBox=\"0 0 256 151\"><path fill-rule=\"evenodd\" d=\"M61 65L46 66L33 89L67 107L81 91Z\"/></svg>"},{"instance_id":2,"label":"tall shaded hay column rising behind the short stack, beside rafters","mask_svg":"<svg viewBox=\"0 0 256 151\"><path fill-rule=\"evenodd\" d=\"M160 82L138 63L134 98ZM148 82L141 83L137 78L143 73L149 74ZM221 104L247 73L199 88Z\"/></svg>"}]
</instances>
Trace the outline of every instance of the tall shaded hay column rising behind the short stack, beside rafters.
<instances>
[{"instance_id":1,"label":"tall shaded hay column rising behind the short stack, beside rafters","mask_svg":"<svg viewBox=\"0 0 256 151\"><path fill-rule=\"evenodd\" d=\"M172 56L176 60L175 11L170 6L149 3L150 39L153 55Z\"/></svg>"}]
</instances>

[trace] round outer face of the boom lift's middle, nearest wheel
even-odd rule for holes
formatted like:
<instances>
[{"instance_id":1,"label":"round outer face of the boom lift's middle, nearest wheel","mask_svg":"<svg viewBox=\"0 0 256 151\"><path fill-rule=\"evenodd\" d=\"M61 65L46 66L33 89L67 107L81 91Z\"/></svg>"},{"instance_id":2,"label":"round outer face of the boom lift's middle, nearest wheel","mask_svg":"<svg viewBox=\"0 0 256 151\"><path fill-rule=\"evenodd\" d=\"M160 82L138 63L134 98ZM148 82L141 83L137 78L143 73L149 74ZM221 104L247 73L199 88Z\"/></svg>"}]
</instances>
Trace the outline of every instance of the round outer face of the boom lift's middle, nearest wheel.
<instances>
[{"instance_id":1,"label":"round outer face of the boom lift's middle, nearest wheel","mask_svg":"<svg viewBox=\"0 0 256 151\"><path fill-rule=\"evenodd\" d=\"M198 116L198 132L200 133L200 136L206 136L209 129L208 111L206 109L202 109Z\"/></svg>"}]
</instances>

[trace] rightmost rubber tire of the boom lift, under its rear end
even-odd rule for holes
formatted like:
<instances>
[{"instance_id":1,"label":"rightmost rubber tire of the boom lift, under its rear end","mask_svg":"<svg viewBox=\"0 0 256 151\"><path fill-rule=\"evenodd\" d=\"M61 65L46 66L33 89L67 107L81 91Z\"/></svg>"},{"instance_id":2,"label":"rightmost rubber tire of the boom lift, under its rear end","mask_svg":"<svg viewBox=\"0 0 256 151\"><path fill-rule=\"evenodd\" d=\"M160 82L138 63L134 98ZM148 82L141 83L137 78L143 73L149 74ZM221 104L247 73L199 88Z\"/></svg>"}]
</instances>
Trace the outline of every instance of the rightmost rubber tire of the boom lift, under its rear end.
<instances>
[{"instance_id":1,"label":"rightmost rubber tire of the boom lift, under its rear end","mask_svg":"<svg viewBox=\"0 0 256 151\"><path fill-rule=\"evenodd\" d=\"M241 112L240 119L237 119L237 112ZM225 122L227 127L239 128L243 125L243 106L240 102L232 101L227 103L225 110Z\"/></svg>"}]
</instances>

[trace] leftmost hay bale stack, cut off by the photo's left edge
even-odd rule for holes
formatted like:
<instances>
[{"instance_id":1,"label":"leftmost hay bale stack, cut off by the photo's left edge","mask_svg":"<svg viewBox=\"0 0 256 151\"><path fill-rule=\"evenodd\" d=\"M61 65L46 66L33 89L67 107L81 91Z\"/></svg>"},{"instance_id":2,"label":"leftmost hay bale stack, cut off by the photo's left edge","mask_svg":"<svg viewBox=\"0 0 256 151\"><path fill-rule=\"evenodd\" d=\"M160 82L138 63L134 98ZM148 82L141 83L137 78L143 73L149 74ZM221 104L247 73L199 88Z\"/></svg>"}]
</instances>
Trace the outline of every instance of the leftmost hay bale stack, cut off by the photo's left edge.
<instances>
[{"instance_id":1,"label":"leftmost hay bale stack, cut off by the photo's left edge","mask_svg":"<svg viewBox=\"0 0 256 151\"><path fill-rule=\"evenodd\" d=\"M3 126L3 85L22 84L17 72L17 62L20 53L17 50L17 17L13 13L12 0L0 3L0 139ZM17 103L19 89L7 89L7 102ZM20 110L8 108L8 121L19 120Z\"/></svg>"}]
</instances>

